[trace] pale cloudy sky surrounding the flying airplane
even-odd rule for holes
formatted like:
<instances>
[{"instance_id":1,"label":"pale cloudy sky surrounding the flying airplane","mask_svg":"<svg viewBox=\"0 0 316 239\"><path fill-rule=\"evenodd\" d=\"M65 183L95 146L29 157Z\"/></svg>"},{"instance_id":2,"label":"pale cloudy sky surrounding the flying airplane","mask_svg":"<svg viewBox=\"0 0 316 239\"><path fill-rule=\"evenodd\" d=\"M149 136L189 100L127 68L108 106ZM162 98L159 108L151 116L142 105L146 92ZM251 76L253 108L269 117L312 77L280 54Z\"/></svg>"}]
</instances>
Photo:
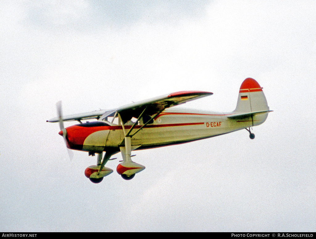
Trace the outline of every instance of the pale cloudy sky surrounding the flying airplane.
<instances>
[{"instance_id":1,"label":"pale cloudy sky surrounding the flying airplane","mask_svg":"<svg viewBox=\"0 0 316 239\"><path fill-rule=\"evenodd\" d=\"M0 3L0 231L315 231L314 1ZM69 159L64 115L182 90L182 107L230 112L242 81L267 120L187 144L134 151L146 167L100 184ZM65 122L70 126L76 122ZM133 152L133 153L134 153Z\"/></svg>"}]
</instances>

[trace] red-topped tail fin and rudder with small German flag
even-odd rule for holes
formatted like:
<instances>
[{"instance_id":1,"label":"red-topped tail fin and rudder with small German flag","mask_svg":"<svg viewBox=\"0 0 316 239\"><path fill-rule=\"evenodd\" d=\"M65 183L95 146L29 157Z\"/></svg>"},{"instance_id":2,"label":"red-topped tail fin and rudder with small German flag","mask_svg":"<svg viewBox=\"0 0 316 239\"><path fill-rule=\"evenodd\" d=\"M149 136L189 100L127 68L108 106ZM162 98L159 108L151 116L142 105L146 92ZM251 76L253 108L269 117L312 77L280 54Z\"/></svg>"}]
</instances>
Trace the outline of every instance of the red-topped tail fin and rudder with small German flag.
<instances>
[{"instance_id":1,"label":"red-topped tail fin and rudder with small German flag","mask_svg":"<svg viewBox=\"0 0 316 239\"><path fill-rule=\"evenodd\" d=\"M252 126L262 124L268 117L269 106L262 87L252 78L247 78L240 86L236 109L229 118L251 119Z\"/></svg>"}]
</instances>

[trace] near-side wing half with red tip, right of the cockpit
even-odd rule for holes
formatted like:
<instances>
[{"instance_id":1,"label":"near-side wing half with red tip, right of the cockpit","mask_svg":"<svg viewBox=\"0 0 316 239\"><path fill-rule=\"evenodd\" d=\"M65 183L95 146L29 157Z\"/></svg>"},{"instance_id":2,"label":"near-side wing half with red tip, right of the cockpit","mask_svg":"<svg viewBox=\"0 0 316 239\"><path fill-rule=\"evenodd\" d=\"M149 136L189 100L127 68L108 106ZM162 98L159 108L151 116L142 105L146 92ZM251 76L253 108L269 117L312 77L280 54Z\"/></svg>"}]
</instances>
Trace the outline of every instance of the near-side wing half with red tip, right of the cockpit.
<instances>
[{"instance_id":1,"label":"near-side wing half with red tip, right of the cockpit","mask_svg":"<svg viewBox=\"0 0 316 239\"><path fill-rule=\"evenodd\" d=\"M143 112L145 112L146 115L152 116L159 114L161 111L169 107L184 104L185 102L212 94L213 93L211 92L205 91L179 91L158 96L149 100L124 105L119 107L116 111L121 115L123 122L127 122L132 117L138 118Z\"/></svg>"}]
</instances>

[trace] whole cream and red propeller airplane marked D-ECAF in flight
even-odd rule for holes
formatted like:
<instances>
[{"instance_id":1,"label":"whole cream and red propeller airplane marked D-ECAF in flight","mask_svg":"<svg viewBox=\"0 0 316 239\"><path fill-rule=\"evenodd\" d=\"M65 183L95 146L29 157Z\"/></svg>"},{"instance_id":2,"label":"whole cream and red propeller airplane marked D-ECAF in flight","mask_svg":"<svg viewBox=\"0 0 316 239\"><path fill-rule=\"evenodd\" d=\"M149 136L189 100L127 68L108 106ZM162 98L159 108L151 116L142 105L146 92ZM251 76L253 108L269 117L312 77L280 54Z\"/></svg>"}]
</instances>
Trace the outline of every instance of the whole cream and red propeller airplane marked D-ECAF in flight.
<instances>
[{"instance_id":1,"label":"whole cream and red propeller airplane marked D-ECAF in flight","mask_svg":"<svg viewBox=\"0 0 316 239\"><path fill-rule=\"evenodd\" d=\"M241 129L249 132L250 139L255 138L250 128L262 124L270 110L262 87L252 78L246 78L241 84L236 108L230 113L172 108L212 94L179 91L117 109L65 117L59 101L58 117L47 122L59 122L58 134L63 136L67 148L87 151L89 156L97 154L96 165L89 166L84 172L91 182L100 183L113 172L105 164L116 159L111 157L119 152L123 162L119 163L116 171L123 179L130 180L145 169L145 166L131 160L133 150L182 144ZM96 121L82 122L88 119ZM79 124L64 128L65 121L78 121Z\"/></svg>"}]
</instances>

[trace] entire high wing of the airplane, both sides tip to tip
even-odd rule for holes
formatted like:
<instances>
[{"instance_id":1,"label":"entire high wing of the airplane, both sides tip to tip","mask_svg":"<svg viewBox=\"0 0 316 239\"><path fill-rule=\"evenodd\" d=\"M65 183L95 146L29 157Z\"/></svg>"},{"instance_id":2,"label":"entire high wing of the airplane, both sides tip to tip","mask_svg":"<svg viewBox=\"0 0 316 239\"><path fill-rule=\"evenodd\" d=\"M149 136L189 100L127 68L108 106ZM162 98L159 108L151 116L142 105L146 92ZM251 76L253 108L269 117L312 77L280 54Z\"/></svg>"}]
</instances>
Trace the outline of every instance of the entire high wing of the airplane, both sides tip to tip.
<instances>
[{"instance_id":1,"label":"entire high wing of the airplane, both sides tip to tip","mask_svg":"<svg viewBox=\"0 0 316 239\"><path fill-rule=\"evenodd\" d=\"M211 92L204 91L179 91L171 94L162 95L159 97L155 97L149 100L143 100L137 103L132 103L129 105L124 105L117 109L113 110L98 110L91 111L87 113L74 114L63 116L63 121L78 121L81 123L81 120L87 119L99 119L113 116L114 113L119 113L122 117L123 122L129 121L132 117L138 118L142 113L146 115L154 115L159 114L166 108L169 108L174 105L180 105L185 102L196 100L198 98L202 98L204 96L212 95ZM55 117L46 122L58 122L59 118Z\"/></svg>"}]
</instances>

